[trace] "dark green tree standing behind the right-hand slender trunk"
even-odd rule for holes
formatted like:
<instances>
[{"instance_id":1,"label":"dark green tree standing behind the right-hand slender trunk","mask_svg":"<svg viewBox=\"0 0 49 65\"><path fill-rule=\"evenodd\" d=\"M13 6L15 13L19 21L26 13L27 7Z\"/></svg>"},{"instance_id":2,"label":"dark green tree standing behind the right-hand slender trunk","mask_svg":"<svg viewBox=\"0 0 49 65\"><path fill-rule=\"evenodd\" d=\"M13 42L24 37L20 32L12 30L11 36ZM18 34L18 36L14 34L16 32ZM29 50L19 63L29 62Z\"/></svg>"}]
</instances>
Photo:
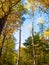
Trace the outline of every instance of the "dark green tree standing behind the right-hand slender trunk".
<instances>
[{"instance_id":1,"label":"dark green tree standing behind the right-hand slender trunk","mask_svg":"<svg viewBox=\"0 0 49 65\"><path fill-rule=\"evenodd\" d=\"M42 37L40 38L39 34L34 35L34 44L35 44L35 52L36 52L36 64L37 65L45 65L48 64L48 60L46 60L48 53L47 49L47 41ZM29 37L26 42L24 43L25 48L28 49L28 52L31 57L33 58L33 53L32 53L32 38ZM31 59L32 60L32 59Z\"/></svg>"}]
</instances>

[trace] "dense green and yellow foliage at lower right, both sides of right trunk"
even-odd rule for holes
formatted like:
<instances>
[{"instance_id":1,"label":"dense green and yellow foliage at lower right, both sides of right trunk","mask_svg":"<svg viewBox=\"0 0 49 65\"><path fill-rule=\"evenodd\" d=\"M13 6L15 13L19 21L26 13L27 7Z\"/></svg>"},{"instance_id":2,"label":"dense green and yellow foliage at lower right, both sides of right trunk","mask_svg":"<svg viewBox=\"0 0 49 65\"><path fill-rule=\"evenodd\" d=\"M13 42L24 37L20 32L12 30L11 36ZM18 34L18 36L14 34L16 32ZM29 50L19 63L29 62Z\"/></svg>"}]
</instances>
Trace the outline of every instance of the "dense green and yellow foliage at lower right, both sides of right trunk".
<instances>
[{"instance_id":1,"label":"dense green and yellow foliage at lower right, both sides of right trunk","mask_svg":"<svg viewBox=\"0 0 49 65\"><path fill-rule=\"evenodd\" d=\"M24 52L22 52L21 54L23 59L26 61L24 62L23 60L23 62L26 63L26 65L32 65L33 64L32 37L29 37L24 43L24 45L25 45L25 48L24 48L25 50L23 50ZM49 44L44 38L40 39L40 36L38 33L34 35L34 46L35 46L35 55L36 55L36 58L35 58L36 65L49 65L49 60L48 60Z\"/></svg>"}]
</instances>

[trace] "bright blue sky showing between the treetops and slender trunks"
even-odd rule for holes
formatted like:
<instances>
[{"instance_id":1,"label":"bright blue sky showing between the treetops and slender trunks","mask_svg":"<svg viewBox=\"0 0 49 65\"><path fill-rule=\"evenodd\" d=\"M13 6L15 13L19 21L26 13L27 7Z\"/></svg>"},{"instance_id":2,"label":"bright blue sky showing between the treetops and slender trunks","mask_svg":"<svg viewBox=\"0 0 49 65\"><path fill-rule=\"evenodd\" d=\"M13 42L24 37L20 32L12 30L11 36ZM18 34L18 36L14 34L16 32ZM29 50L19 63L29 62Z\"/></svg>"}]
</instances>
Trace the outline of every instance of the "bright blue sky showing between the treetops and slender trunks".
<instances>
[{"instance_id":1,"label":"bright blue sky showing between the treetops and slender trunks","mask_svg":"<svg viewBox=\"0 0 49 65\"><path fill-rule=\"evenodd\" d=\"M45 22L47 22L47 14L41 15ZM22 32L21 32L21 43L24 43L25 40L31 35L31 30L29 29L29 26L32 24L32 19L29 18L28 15L24 15L26 20L24 21L22 25ZM37 19L40 17L40 13L38 11L34 12L34 31L39 31L39 26L37 25ZM19 43L19 30L15 32L14 34L15 38L17 39L16 43ZM18 48L18 44L16 45L16 49Z\"/></svg>"}]
</instances>

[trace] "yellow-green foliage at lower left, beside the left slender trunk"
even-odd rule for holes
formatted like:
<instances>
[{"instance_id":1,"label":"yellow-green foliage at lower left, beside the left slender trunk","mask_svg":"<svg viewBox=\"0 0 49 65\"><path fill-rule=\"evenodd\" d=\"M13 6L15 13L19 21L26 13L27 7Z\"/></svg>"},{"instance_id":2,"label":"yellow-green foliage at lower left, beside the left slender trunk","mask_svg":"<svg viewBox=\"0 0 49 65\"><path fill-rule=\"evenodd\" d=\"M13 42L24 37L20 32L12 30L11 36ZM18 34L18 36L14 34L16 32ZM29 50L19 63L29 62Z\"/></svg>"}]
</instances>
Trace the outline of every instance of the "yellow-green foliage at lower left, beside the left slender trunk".
<instances>
[{"instance_id":1,"label":"yellow-green foliage at lower left, beside the left slender trunk","mask_svg":"<svg viewBox=\"0 0 49 65\"><path fill-rule=\"evenodd\" d=\"M1 43L0 39L0 43ZM4 40L4 45L2 47L0 65L16 65L17 63L17 53L15 51L14 38L9 38Z\"/></svg>"}]
</instances>

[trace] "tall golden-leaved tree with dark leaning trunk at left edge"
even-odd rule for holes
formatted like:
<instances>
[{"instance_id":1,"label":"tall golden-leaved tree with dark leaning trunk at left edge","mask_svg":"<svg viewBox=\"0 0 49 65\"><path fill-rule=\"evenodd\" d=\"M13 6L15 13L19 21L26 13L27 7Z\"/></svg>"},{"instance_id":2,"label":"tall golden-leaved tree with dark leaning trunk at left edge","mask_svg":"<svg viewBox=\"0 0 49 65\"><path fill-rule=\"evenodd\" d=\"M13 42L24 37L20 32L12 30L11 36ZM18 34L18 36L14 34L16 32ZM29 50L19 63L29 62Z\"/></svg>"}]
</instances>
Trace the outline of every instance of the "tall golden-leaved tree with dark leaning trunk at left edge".
<instances>
[{"instance_id":1,"label":"tall golden-leaved tree with dark leaning trunk at left edge","mask_svg":"<svg viewBox=\"0 0 49 65\"><path fill-rule=\"evenodd\" d=\"M21 16L22 16L23 6L19 0L17 1L1 0L0 3L2 5L0 9L3 9L4 16L7 16L5 17L7 19L4 21L5 18L4 16L2 16L3 15L2 11L0 12L1 13L0 18L1 19L4 18L0 22L0 23L3 22L2 24L0 24L0 34L1 34L0 38L3 38L0 46L0 56L1 56L2 48L4 46L4 41L8 39L13 34L13 32L19 27L19 24L17 23L21 22L22 20Z\"/></svg>"}]
</instances>

